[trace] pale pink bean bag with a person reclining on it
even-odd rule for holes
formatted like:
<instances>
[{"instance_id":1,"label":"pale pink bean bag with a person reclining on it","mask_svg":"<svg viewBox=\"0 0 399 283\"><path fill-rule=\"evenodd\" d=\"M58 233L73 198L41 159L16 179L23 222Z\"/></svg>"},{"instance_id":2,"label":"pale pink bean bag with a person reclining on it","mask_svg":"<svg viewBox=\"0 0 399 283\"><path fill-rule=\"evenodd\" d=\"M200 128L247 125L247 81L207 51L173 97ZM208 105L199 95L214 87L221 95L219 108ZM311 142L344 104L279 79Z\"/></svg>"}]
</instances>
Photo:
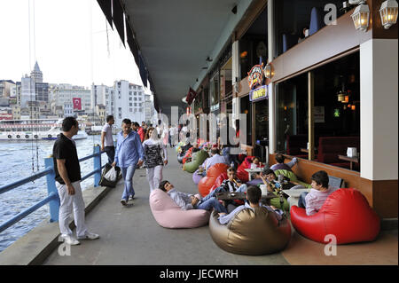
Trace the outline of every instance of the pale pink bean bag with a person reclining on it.
<instances>
[{"instance_id":1,"label":"pale pink bean bag with a person reclining on it","mask_svg":"<svg viewBox=\"0 0 399 283\"><path fill-rule=\"evenodd\" d=\"M156 222L165 228L204 226L210 216L210 213L204 209L183 210L169 197L168 193L160 189L155 189L150 194L150 208Z\"/></svg>"}]
</instances>

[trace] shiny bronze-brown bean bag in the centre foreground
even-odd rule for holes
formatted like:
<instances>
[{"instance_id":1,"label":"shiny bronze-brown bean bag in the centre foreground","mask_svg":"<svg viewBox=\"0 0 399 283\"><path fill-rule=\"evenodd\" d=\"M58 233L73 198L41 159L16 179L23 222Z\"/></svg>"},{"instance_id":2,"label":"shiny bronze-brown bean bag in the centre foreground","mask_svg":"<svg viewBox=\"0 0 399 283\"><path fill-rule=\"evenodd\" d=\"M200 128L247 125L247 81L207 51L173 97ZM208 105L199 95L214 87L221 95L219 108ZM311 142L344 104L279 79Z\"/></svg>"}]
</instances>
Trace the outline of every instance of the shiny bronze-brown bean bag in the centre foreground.
<instances>
[{"instance_id":1,"label":"shiny bronze-brown bean bag in the centre foreground","mask_svg":"<svg viewBox=\"0 0 399 283\"><path fill-rule=\"evenodd\" d=\"M268 255L283 250L291 240L291 225L278 220L267 208L244 208L228 224L218 214L209 219L209 232L219 248L239 255Z\"/></svg>"}]
</instances>

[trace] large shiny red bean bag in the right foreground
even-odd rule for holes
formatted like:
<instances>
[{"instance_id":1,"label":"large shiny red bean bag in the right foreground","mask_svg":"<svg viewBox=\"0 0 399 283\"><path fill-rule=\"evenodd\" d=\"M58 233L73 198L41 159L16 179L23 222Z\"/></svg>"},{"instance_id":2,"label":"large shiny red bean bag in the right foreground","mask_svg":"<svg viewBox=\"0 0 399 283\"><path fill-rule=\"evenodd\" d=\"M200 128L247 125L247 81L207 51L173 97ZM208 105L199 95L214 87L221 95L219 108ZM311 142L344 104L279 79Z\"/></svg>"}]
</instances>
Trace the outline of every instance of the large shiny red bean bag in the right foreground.
<instances>
[{"instance_id":1,"label":"large shiny red bean bag in the right foreground","mask_svg":"<svg viewBox=\"0 0 399 283\"><path fill-rule=\"evenodd\" d=\"M356 189L339 189L330 194L320 210L307 216L304 208L291 208L291 223L295 230L320 243L332 234L337 244L375 240L379 234L379 216L364 195Z\"/></svg>"}]
</instances>

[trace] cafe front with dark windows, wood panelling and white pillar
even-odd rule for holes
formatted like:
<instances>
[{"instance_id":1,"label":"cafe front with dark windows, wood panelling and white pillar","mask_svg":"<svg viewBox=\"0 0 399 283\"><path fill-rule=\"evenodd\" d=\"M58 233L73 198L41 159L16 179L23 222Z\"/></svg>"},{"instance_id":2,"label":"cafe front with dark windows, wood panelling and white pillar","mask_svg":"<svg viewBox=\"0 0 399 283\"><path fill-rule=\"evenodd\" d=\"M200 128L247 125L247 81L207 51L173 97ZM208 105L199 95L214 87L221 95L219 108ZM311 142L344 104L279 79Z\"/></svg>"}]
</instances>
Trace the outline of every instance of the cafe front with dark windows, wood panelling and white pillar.
<instances>
[{"instance_id":1,"label":"cafe front with dark windows, wood panelling and white pillar","mask_svg":"<svg viewBox=\"0 0 399 283\"><path fill-rule=\"evenodd\" d=\"M382 27L382 2L366 1L359 30L356 5L253 1L216 59L223 64L198 83L196 114L246 114L246 153L268 154L270 164L276 153L297 157L303 181L323 169L396 218L398 29Z\"/></svg>"}]
</instances>

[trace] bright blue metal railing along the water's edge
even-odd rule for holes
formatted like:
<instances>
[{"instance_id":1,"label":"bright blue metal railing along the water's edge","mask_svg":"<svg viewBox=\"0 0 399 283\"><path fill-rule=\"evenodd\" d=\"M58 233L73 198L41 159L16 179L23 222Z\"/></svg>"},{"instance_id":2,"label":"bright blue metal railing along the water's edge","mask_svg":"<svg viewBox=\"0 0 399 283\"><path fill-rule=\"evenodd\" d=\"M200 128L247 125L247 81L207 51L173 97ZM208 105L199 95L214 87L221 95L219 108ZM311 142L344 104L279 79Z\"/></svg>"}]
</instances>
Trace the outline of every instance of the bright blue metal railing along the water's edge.
<instances>
[{"instance_id":1,"label":"bright blue metal railing along the water's edge","mask_svg":"<svg viewBox=\"0 0 399 283\"><path fill-rule=\"evenodd\" d=\"M95 187L98 186L98 183L101 178L101 169L106 167L106 165L101 166L101 154L102 153L106 153L106 152L101 152L100 146L95 145L93 148L93 154L83 157L79 160L79 162L82 162L82 161L89 160L90 158L94 159L94 162L93 162L94 170L91 171L86 176L82 177L81 181L94 175L94 186ZM49 203L49 206L50 206L50 222L58 222L59 221L59 192L57 190L56 183L55 183L54 161L53 161L52 156L49 156L48 158L44 159L44 166L45 166L45 169L43 171L40 171L31 177L26 177L24 179L21 179L17 182L12 183L12 184L2 185L0 187L0 194L2 194L2 193L9 192L12 189L15 189L16 187L19 187L20 185L27 184L29 182L35 181L36 179L45 176L47 179L47 193L48 193L48 196L46 198L44 198L43 200L37 202L32 207L27 208L26 210L20 212L18 215L13 216L10 220L7 220L3 224L0 224L0 232L3 232L8 227L12 226L13 224L16 224L21 219L30 215L35 210L42 208L47 203Z\"/></svg>"}]
</instances>

